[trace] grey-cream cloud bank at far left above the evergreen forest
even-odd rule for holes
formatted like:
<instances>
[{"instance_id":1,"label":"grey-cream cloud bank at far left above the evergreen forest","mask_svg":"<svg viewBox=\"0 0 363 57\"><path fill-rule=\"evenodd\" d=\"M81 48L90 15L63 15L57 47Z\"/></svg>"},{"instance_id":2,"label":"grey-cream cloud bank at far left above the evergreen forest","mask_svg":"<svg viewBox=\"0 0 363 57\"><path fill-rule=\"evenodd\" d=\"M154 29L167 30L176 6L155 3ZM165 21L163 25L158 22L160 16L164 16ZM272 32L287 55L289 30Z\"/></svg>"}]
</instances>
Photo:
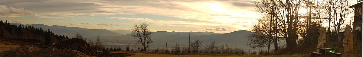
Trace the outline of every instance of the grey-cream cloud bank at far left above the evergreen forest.
<instances>
[{"instance_id":1,"label":"grey-cream cloud bank at far left above the evergreen forest","mask_svg":"<svg viewBox=\"0 0 363 57\"><path fill-rule=\"evenodd\" d=\"M0 5L0 16L11 16L12 14L27 15L33 17L34 13L24 8L13 8L5 5Z\"/></svg>"}]
</instances>

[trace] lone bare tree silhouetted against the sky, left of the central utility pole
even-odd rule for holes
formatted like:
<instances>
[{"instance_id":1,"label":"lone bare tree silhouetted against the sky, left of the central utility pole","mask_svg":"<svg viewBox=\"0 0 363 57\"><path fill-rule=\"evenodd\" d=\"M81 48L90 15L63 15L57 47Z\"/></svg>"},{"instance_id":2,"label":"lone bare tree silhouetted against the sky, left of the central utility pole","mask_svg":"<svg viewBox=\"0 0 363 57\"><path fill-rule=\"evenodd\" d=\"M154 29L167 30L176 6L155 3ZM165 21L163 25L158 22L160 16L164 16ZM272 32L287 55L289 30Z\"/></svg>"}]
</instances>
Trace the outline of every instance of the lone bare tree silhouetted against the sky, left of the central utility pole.
<instances>
[{"instance_id":1,"label":"lone bare tree silhouetted against the sky, left of the central utility pole","mask_svg":"<svg viewBox=\"0 0 363 57\"><path fill-rule=\"evenodd\" d=\"M144 47L144 51L147 51L149 48L149 44L153 43L154 41L151 40L150 35L152 34L150 32L150 29L147 29L147 27L149 26L149 24L147 23L139 23L139 24L134 24L134 27L131 28L132 32L131 34L132 37L134 37L134 40L138 43L141 43Z\"/></svg>"}]
</instances>

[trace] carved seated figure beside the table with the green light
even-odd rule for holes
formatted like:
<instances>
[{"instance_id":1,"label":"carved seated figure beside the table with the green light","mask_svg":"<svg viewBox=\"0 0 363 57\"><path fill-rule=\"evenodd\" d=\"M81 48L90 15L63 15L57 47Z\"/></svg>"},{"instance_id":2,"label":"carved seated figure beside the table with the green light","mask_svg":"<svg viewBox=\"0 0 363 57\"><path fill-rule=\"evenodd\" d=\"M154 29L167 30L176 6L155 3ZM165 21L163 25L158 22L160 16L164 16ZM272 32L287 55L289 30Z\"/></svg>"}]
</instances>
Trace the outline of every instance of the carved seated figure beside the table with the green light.
<instances>
[{"instance_id":1,"label":"carved seated figure beside the table with the green light","mask_svg":"<svg viewBox=\"0 0 363 57\"><path fill-rule=\"evenodd\" d=\"M324 27L319 29L318 48L324 48L326 43L326 31ZM317 50L319 52L319 49Z\"/></svg>"}]
</instances>

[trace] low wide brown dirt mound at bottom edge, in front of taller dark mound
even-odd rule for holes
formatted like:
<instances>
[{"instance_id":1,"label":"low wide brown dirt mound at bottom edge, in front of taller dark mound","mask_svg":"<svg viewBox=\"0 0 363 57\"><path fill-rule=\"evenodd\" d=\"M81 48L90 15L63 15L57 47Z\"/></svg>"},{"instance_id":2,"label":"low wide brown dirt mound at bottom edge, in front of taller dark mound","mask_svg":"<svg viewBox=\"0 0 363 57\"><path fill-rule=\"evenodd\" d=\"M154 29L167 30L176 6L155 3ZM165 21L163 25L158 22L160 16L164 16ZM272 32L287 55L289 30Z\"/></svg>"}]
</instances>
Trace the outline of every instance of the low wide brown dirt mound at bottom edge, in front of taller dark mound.
<instances>
[{"instance_id":1,"label":"low wide brown dirt mound at bottom edge, in front of taller dark mound","mask_svg":"<svg viewBox=\"0 0 363 57\"><path fill-rule=\"evenodd\" d=\"M86 54L70 49L57 49L54 47L39 49L28 54L28 57L88 57Z\"/></svg>"}]
</instances>

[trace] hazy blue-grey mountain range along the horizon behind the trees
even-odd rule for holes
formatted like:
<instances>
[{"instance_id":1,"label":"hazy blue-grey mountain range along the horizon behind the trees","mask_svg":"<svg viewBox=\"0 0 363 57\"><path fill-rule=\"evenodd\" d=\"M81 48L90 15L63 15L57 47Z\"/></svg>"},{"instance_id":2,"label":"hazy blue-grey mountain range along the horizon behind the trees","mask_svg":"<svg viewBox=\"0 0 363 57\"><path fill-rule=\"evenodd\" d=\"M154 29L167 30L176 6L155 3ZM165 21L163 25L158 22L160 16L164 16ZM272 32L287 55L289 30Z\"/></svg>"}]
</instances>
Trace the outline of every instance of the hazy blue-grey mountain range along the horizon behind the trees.
<instances>
[{"instance_id":1,"label":"hazy blue-grey mountain range along the horizon behind the trees","mask_svg":"<svg viewBox=\"0 0 363 57\"><path fill-rule=\"evenodd\" d=\"M19 23L13 23L19 25ZM24 25L29 26L29 25ZM102 30L102 29L84 29L79 27L66 27L66 26L47 26L42 24L33 24L31 26L41 27L42 29L50 29L55 34L62 34L72 38L74 34L81 33L88 39L95 40L96 36L100 36L103 44L106 47L121 47L126 48L126 45L134 45L135 41L132 38L130 30ZM154 48L165 48L165 44L168 43L168 49L171 49L175 42L179 43L181 47L188 47L189 33L191 41L199 39L203 41L202 48L211 39L213 41L219 42L219 45L228 44L230 47L240 47L244 49L250 49L251 51L257 50L248 47L248 34L254 34L254 32L240 30L229 32L225 34L215 33L215 32L167 32L167 31L156 31L152 32L151 39L155 41L151 43L150 47ZM136 47L142 47L140 44ZM135 47L133 47L135 48ZM265 47L262 47L264 49ZM261 49L261 48L260 48ZM273 49L273 45L271 46Z\"/></svg>"}]
</instances>

